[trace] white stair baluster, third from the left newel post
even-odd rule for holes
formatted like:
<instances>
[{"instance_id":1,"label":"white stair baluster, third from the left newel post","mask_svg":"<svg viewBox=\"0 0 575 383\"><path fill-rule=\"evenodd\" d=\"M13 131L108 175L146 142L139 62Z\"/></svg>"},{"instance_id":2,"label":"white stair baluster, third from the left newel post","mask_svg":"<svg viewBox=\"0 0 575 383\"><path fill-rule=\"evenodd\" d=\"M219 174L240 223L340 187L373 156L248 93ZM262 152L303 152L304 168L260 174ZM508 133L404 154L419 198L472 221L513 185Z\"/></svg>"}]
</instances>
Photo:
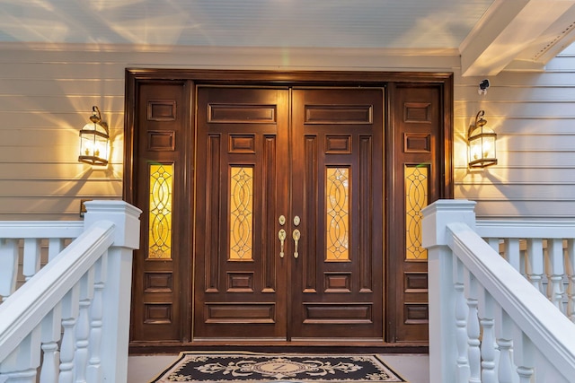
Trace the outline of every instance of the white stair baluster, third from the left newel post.
<instances>
[{"instance_id":1,"label":"white stair baluster, third from the left newel post","mask_svg":"<svg viewBox=\"0 0 575 383\"><path fill-rule=\"evenodd\" d=\"M74 381L74 354L75 354L75 322L79 310L79 284L66 293L62 300L62 345L60 347L60 376L59 383L72 383Z\"/></svg>"}]
</instances>

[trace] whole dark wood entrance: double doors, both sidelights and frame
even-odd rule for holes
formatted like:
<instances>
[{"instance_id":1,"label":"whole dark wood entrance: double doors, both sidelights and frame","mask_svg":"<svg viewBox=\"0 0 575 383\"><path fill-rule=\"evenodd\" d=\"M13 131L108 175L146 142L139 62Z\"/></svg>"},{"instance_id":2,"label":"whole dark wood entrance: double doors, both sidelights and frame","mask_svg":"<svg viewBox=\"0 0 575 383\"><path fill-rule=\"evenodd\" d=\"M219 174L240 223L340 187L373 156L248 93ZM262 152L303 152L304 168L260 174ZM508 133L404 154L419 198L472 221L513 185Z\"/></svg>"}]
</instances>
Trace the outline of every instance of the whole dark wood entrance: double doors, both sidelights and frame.
<instances>
[{"instance_id":1,"label":"whole dark wood entrance: double doors, both sidelights and frame","mask_svg":"<svg viewBox=\"0 0 575 383\"><path fill-rule=\"evenodd\" d=\"M449 74L128 70L132 347L425 344Z\"/></svg>"}]
</instances>

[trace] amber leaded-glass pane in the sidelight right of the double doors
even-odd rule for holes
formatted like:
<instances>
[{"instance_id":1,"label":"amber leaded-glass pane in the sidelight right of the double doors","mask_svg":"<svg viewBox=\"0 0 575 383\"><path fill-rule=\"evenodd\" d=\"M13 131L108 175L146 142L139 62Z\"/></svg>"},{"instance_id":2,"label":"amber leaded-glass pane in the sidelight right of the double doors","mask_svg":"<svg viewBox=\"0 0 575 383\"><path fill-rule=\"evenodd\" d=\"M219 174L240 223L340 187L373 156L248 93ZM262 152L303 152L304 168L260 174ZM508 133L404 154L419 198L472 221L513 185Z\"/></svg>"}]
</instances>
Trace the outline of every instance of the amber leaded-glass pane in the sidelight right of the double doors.
<instances>
[{"instance_id":1,"label":"amber leaded-glass pane in the sidelight right of the double doors","mask_svg":"<svg viewBox=\"0 0 575 383\"><path fill-rule=\"evenodd\" d=\"M405 177L405 257L426 260L428 250L421 247L421 209L428 205L429 165L406 165Z\"/></svg>"}]
</instances>

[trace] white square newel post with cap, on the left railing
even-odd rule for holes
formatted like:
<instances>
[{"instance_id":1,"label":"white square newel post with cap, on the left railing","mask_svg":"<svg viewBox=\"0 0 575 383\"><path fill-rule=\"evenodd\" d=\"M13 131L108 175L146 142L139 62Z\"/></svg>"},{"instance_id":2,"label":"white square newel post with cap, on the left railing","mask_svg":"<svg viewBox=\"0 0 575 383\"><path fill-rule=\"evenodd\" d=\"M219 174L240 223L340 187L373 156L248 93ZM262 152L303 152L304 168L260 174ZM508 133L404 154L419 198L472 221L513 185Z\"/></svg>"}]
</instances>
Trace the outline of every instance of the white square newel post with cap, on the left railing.
<instances>
[{"instance_id":1,"label":"white square newel post with cap, on the left railing","mask_svg":"<svg viewBox=\"0 0 575 383\"><path fill-rule=\"evenodd\" d=\"M129 312L132 285L132 255L139 248L142 213L124 201L85 203L84 228L94 222L114 223L114 242L108 250L102 291L102 344L99 381L125 382L128 379Z\"/></svg>"}]
</instances>

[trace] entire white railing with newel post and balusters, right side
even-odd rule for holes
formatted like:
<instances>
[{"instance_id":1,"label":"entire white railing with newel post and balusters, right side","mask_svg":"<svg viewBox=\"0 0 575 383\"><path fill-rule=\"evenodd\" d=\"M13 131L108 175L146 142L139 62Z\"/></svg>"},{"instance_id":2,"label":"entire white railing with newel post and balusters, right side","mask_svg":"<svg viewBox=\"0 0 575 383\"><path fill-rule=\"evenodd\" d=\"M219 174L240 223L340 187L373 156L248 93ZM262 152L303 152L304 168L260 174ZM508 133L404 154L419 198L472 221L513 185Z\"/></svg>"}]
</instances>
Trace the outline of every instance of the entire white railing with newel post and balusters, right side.
<instances>
[{"instance_id":1,"label":"entire white railing with newel post and balusters, right side","mask_svg":"<svg viewBox=\"0 0 575 383\"><path fill-rule=\"evenodd\" d=\"M562 265L572 257L572 223L562 232L537 230L533 222L506 222L515 229L504 229L476 222L473 207L470 201L440 200L422 212L423 246L429 249L430 382L573 381L575 325L558 309L565 279L560 273L570 267ZM540 287L544 279L549 289Z\"/></svg>"}]
</instances>

